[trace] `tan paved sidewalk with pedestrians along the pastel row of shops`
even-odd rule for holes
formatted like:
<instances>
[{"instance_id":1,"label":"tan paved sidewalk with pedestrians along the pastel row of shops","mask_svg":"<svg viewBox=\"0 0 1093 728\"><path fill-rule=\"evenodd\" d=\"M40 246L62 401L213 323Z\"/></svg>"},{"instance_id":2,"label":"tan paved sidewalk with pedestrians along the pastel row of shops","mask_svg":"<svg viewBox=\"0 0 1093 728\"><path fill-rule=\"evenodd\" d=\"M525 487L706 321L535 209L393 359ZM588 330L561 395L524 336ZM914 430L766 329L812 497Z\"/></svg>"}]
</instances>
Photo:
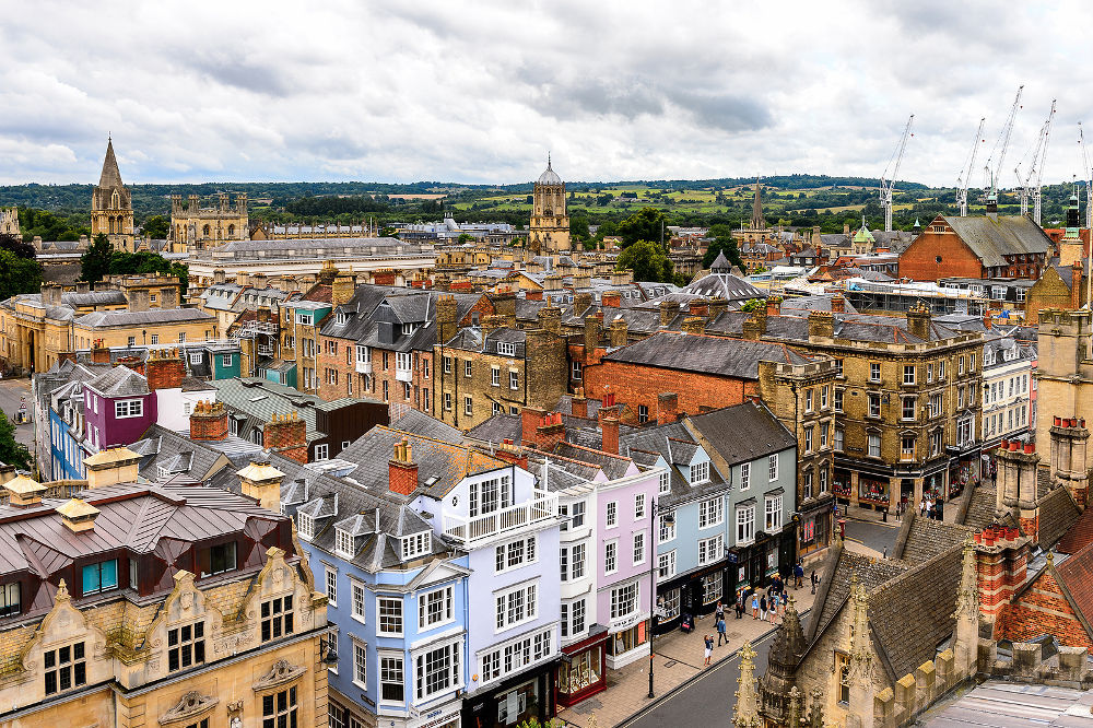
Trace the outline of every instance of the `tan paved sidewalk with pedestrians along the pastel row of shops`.
<instances>
[{"instance_id":1,"label":"tan paved sidewalk with pedestrians along the pastel row of shops","mask_svg":"<svg viewBox=\"0 0 1093 728\"><path fill-rule=\"evenodd\" d=\"M807 582L800 589L789 589L789 596L796 600L798 612L811 608L812 601L815 599ZM750 611L744 614L743 619L738 620L736 613L727 609L725 617L729 644L714 647L714 656L709 661L710 668L717 662L732 657L745 642L755 643L776 626L769 621L761 622L752 619ZM780 618L778 618L778 623L781 623ZM663 698L669 692L683 685L703 670L710 669L702 666L703 636L706 634L714 635L714 644L716 645L717 629L714 626L713 613L698 618L691 634L675 630L657 637L655 643L656 661L653 670L655 700ZM654 702L649 700L649 660L648 657L645 657L631 662L621 670L609 669L607 690L572 708L560 711L557 717L565 720L567 725L578 726L578 728L590 728L592 725L598 728L610 728L610 726L618 726ZM593 717L595 723L592 721Z\"/></svg>"}]
</instances>

